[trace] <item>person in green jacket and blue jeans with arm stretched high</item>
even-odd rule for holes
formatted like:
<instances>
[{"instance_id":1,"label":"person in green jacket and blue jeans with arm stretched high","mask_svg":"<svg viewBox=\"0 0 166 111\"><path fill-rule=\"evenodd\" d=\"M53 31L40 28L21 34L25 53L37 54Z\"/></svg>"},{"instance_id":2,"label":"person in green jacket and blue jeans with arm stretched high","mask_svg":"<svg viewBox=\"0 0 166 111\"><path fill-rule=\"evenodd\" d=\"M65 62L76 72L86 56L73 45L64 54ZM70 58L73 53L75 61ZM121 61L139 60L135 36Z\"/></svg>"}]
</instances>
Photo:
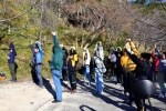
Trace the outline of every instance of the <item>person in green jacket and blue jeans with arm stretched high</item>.
<instances>
[{"instance_id":1,"label":"person in green jacket and blue jeans with arm stretched high","mask_svg":"<svg viewBox=\"0 0 166 111\"><path fill-rule=\"evenodd\" d=\"M62 101L62 85L60 81L60 75L62 72L63 67L63 56L64 51L60 48L59 41L58 41L58 34L56 32L52 32L53 36L53 48L52 48L52 60L49 61L50 69L52 71L53 82L55 85L55 95L54 95L54 102L61 102Z\"/></svg>"}]
</instances>

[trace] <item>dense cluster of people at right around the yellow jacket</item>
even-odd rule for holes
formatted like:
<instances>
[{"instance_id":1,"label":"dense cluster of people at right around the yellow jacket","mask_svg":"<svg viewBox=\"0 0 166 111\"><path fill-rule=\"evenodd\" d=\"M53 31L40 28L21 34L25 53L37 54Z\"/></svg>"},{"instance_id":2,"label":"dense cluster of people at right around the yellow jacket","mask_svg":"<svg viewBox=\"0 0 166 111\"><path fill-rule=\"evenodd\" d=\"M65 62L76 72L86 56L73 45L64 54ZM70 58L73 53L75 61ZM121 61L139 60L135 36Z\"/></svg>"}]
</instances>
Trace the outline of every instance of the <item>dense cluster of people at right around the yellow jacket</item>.
<instances>
[{"instance_id":1,"label":"dense cluster of people at right around the yellow jacket","mask_svg":"<svg viewBox=\"0 0 166 111\"><path fill-rule=\"evenodd\" d=\"M149 80L158 82L160 93L158 98L166 98L166 52L162 54L156 44L154 51L138 53L131 39L126 40L123 49L111 48L108 54L108 64L111 69L111 79L116 77L117 85L123 84L124 93L128 95L128 104L135 101L138 111L145 111L145 99L133 95L132 84L136 80Z\"/></svg>"}]
</instances>

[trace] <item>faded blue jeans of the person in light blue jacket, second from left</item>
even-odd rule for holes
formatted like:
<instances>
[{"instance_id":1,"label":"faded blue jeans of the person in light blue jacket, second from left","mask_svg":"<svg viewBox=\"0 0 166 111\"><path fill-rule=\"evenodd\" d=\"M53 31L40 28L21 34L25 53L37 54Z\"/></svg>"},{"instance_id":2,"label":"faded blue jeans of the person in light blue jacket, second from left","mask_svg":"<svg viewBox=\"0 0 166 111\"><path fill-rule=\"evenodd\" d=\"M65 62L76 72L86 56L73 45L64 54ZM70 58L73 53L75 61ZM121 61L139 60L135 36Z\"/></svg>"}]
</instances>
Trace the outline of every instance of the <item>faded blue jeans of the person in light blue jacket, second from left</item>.
<instances>
[{"instance_id":1,"label":"faded blue jeans of the person in light blue jacket, second from left","mask_svg":"<svg viewBox=\"0 0 166 111\"><path fill-rule=\"evenodd\" d=\"M42 79L41 70L42 70L42 65L35 65L35 72L37 72L35 74L38 78L38 85L39 87L43 87L43 79Z\"/></svg>"}]
</instances>

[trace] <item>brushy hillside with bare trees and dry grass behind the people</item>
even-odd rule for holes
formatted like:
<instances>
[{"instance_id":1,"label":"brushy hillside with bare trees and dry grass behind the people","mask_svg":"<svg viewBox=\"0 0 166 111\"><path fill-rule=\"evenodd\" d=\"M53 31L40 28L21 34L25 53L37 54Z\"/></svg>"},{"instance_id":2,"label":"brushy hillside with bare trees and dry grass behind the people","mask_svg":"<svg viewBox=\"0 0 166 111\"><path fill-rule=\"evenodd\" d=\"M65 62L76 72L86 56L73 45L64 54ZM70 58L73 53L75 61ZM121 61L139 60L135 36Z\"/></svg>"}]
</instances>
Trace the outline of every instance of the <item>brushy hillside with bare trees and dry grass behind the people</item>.
<instances>
[{"instance_id":1,"label":"brushy hillside with bare trees and dry grass behind the people","mask_svg":"<svg viewBox=\"0 0 166 111\"><path fill-rule=\"evenodd\" d=\"M165 50L166 7L118 0L1 0L0 1L0 72L10 79L8 46L14 42L18 52L18 80L31 79L30 42L40 40L45 52L43 77L51 77L48 60L51 59L51 31L58 31L60 43L75 46L81 65L82 48L89 44L93 56L96 41L102 41L105 56L111 46L124 46L132 38L139 51L148 51L157 42Z\"/></svg>"}]
</instances>

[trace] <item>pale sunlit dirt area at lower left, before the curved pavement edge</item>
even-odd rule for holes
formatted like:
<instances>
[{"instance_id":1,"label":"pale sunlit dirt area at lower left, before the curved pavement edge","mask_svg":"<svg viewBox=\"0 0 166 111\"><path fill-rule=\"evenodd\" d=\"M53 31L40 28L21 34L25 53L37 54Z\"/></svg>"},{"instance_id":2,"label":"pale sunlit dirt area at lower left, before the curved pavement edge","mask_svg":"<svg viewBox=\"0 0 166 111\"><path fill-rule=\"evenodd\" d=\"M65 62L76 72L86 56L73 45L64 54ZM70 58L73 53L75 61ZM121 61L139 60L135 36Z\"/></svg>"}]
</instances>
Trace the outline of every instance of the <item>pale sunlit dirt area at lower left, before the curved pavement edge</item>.
<instances>
[{"instance_id":1,"label":"pale sunlit dirt area at lower left, before the curved pavement edge","mask_svg":"<svg viewBox=\"0 0 166 111\"><path fill-rule=\"evenodd\" d=\"M32 81L0 84L0 111L34 111L35 108L52 99L46 89L37 87Z\"/></svg>"}]
</instances>

